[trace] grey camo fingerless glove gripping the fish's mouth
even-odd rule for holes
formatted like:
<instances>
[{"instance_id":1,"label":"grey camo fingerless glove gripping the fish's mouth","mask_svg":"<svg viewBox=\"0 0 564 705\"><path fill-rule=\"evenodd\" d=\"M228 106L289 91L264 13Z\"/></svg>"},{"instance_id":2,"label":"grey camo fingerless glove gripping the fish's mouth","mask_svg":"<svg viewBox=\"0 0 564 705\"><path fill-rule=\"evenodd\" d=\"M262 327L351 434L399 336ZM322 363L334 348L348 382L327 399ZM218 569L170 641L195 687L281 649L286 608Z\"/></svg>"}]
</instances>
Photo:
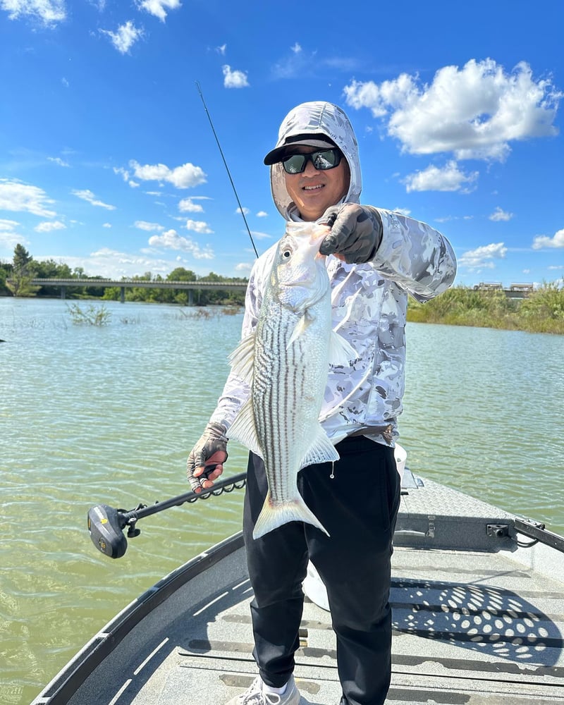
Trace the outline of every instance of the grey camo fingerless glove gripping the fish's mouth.
<instances>
[{"instance_id":1,"label":"grey camo fingerless glove gripping the fish's mouth","mask_svg":"<svg viewBox=\"0 0 564 705\"><path fill-rule=\"evenodd\" d=\"M319 219L331 226L321 243L321 255L338 255L347 264L364 264L376 255L382 239L382 221L372 206L345 203L331 206Z\"/></svg>"}]
</instances>

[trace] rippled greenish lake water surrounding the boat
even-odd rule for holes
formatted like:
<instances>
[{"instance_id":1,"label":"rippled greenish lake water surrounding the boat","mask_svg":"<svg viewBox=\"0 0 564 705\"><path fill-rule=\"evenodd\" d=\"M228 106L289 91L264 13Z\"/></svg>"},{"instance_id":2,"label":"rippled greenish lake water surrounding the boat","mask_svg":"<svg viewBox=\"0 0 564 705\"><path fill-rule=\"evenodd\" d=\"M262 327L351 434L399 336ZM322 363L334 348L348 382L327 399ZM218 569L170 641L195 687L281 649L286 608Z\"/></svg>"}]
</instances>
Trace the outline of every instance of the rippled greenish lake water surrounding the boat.
<instances>
[{"instance_id":1,"label":"rippled greenish lake water surrounding the boat","mask_svg":"<svg viewBox=\"0 0 564 705\"><path fill-rule=\"evenodd\" d=\"M81 304L87 307L88 304ZM110 560L90 506L188 490L185 458L228 372L242 317L0 298L0 702L26 705L114 614L240 527L243 493L140 522ZM401 442L414 472L564 533L564 338L409 324ZM246 451L230 443L230 474Z\"/></svg>"}]
</instances>

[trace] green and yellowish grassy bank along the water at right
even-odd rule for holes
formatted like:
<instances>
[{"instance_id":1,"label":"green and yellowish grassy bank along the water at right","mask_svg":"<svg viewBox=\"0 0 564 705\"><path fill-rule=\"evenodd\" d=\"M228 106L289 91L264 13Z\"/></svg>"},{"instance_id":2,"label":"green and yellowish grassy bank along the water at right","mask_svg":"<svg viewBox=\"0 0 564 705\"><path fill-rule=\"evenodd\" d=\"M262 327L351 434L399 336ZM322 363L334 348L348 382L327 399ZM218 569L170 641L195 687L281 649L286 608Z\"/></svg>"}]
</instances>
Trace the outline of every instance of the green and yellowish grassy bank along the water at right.
<instances>
[{"instance_id":1,"label":"green and yellowish grassy bank along the water at right","mask_svg":"<svg viewBox=\"0 0 564 705\"><path fill-rule=\"evenodd\" d=\"M407 320L563 334L564 286L544 283L525 299L510 299L501 290L474 291L455 286L424 304L410 298Z\"/></svg>"}]
</instances>

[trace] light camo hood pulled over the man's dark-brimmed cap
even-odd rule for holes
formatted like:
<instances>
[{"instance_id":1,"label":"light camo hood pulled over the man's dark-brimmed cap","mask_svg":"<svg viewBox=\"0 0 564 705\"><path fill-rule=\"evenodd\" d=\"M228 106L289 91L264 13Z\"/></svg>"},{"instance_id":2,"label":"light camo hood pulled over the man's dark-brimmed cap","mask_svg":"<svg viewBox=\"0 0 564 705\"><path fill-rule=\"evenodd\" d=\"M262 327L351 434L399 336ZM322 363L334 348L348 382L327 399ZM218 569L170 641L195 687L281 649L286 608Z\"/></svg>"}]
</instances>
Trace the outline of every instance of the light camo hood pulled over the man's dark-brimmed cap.
<instances>
[{"instance_id":1,"label":"light camo hood pulled over the man's dark-brimmed cap","mask_svg":"<svg viewBox=\"0 0 564 705\"><path fill-rule=\"evenodd\" d=\"M308 140L308 135L311 135L311 140ZM329 143L324 142L324 137L329 137ZM321 145L319 145L320 141ZM312 147L321 146L321 148L333 143L341 149L350 168L350 184L343 203L360 201L362 176L358 159L358 142L353 125L350 124L345 111L333 103L324 101L302 103L290 110L283 119L278 130L276 147L264 157L264 163L271 164L270 186L274 204L286 220L299 219L299 215L286 190L283 166L280 161L272 164L272 160L278 159L292 143L304 145L306 142L312 142L310 145Z\"/></svg>"}]
</instances>

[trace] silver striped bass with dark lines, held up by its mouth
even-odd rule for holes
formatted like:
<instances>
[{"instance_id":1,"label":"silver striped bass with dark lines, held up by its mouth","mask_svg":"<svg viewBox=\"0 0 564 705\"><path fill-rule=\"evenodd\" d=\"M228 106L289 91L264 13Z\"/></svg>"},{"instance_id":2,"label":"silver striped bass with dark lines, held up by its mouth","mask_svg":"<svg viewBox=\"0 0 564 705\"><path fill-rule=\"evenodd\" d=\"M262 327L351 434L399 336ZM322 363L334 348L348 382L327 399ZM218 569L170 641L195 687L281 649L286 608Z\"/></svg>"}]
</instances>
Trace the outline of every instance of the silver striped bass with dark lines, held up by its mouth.
<instances>
[{"instance_id":1,"label":"silver striped bass with dark lines, held up by its mouth","mask_svg":"<svg viewBox=\"0 0 564 705\"><path fill-rule=\"evenodd\" d=\"M264 460L268 491L252 536L300 521L329 532L298 491L298 472L339 455L319 422L329 364L355 350L331 327L331 284L319 245L329 227L288 222L266 279L255 331L229 362L250 386L228 437Z\"/></svg>"}]
</instances>

